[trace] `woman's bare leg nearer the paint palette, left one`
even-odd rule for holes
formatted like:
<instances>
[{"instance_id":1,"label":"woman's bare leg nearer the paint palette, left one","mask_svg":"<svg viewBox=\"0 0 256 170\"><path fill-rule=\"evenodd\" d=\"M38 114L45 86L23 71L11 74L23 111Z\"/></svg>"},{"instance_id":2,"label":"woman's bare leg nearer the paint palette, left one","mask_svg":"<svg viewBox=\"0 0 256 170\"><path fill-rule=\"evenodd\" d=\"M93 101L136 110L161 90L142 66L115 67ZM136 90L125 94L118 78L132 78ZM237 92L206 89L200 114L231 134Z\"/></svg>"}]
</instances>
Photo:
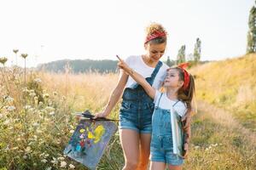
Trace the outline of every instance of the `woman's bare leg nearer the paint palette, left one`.
<instances>
[{"instance_id":1,"label":"woman's bare leg nearer the paint palette, left one","mask_svg":"<svg viewBox=\"0 0 256 170\"><path fill-rule=\"evenodd\" d=\"M125 156L123 170L135 170L139 161L139 133L131 129L120 129L119 138Z\"/></svg>"}]
</instances>

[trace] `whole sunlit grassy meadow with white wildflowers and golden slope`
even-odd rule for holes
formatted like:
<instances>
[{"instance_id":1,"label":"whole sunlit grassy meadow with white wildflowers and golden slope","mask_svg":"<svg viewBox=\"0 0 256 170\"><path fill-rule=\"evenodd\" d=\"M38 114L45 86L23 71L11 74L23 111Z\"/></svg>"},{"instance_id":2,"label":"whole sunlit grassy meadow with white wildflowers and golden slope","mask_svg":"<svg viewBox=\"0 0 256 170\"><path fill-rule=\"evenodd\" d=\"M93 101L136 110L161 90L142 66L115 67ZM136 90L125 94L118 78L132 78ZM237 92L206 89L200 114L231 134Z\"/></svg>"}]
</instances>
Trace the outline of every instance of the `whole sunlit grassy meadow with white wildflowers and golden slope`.
<instances>
[{"instance_id":1,"label":"whole sunlit grassy meadow with white wildflowers and golden slope","mask_svg":"<svg viewBox=\"0 0 256 170\"><path fill-rule=\"evenodd\" d=\"M255 61L248 55L191 69L198 112L183 169L256 169ZM0 69L0 169L86 169L62 151L79 122L76 112L102 111L118 74L26 71L25 85L23 69ZM111 117L118 115L116 105ZM115 133L97 169L123 165Z\"/></svg>"}]
</instances>

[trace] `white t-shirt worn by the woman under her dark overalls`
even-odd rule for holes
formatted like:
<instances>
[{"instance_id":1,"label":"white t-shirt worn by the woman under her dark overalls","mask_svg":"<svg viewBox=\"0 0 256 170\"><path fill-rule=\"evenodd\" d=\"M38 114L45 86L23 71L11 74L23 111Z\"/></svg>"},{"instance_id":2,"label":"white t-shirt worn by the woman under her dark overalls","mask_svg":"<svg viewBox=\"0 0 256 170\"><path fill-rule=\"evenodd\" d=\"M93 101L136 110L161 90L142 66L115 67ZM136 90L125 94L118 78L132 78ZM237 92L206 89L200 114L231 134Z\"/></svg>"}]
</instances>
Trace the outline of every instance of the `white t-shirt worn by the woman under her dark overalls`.
<instances>
[{"instance_id":1,"label":"white t-shirt worn by the woman under her dark overalls","mask_svg":"<svg viewBox=\"0 0 256 170\"><path fill-rule=\"evenodd\" d=\"M143 61L142 55L132 55L125 59L125 63L131 67L134 71L137 71L140 75L143 77L150 77L151 74L154 71L154 67L150 67L146 65ZM168 65L163 63L163 65L160 67L160 70L156 74L154 78L154 82L152 87L154 89L159 89L162 85L162 82L164 82L166 77L166 70L168 69ZM134 84L136 84L135 80L132 77L128 77L128 80L126 82L125 88L131 88Z\"/></svg>"}]
</instances>

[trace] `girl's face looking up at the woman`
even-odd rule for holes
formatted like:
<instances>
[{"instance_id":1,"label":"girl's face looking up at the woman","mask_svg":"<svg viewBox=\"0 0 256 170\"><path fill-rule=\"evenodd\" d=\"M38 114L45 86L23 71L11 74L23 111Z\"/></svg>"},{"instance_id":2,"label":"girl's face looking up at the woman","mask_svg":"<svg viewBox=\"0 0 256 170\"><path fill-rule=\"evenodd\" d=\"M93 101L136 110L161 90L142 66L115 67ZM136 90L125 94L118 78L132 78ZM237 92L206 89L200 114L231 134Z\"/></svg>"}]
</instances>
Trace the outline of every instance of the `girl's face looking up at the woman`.
<instances>
[{"instance_id":1,"label":"girl's face looking up at the woman","mask_svg":"<svg viewBox=\"0 0 256 170\"><path fill-rule=\"evenodd\" d=\"M183 81L179 80L178 71L176 69L169 69L166 72L164 86L166 88L181 88L183 86Z\"/></svg>"}]
</instances>

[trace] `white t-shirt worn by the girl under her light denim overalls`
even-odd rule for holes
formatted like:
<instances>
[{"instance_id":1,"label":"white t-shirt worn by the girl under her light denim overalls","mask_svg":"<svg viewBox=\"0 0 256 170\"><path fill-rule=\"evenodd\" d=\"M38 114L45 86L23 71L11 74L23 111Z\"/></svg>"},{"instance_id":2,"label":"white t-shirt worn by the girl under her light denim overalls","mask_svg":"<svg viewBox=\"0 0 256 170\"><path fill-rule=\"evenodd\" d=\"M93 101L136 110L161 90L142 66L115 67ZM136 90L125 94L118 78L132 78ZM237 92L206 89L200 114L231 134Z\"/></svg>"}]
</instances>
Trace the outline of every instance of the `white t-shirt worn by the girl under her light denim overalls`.
<instances>
[{"instance_id":1,"label":"white t-shirt worn by the girl under her light denim overalls","mask_svg":"<svg viewBox=\"0 0 256 170\"><path fill-rule=\"evenodd\" d=\"M185 115L185 113L187 111L187 107L183 103L183 101L169 99L167 97L166 93L163 93L162 97L160 99L160 95L161 95L160 91L156 90L155 95L154 95L154 105L155 106L157 106L158 103L159 103L158 106L161 109L166 109L166 110L172 111L172 106L175 104L173 106L173 110L176 111L179 116L184 116ZM160 102L159 102L159 99L160 99Z\"/></svg>"}]
</instances>

